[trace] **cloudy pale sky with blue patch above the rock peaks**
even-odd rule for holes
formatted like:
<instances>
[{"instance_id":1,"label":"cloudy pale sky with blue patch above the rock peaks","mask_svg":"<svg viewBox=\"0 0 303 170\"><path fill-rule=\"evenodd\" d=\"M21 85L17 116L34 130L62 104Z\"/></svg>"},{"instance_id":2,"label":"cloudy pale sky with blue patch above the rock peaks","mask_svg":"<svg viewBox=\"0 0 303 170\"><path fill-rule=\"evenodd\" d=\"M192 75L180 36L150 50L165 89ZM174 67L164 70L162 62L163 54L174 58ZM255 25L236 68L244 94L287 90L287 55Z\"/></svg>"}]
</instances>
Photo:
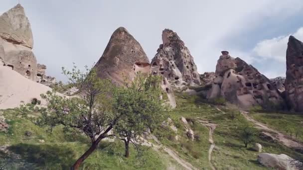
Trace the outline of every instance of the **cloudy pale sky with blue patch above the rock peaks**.
<instances>
[{"instance_id":1,"label":"cloudy pale sky with blue patch above the rock peaks","mask_svg":"<svg viewBox=\"0 0 303 170\"><path fill-rule=\"evenodd\" d=\"M0 13L18 0L1 0ZM47 74L92 66L112 33L125 27L149 59L165 28L177 32L198 72L214 72L221 51L240 57L268 78L285 76L288 37L303 41L302 0L20 0Z\"/></svg>"}]
</instances>

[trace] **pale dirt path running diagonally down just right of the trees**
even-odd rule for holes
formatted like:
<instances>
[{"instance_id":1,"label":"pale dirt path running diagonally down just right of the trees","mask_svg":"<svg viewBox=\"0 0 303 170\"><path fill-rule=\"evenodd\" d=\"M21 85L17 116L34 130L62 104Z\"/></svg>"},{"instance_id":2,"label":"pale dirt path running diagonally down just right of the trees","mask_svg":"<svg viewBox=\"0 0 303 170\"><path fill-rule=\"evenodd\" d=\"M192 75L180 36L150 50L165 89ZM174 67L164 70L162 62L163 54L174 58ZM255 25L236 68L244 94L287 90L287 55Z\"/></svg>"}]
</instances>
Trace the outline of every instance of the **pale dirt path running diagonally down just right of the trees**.
<instances>
[{"instance_id":1,"label":"pale dirt path running diagonally down just right of the trees","mask_svg":"<svg viewBox=\"0 0 303 170\"><path fill-rule=\"evenodd\" d=\"M152 146L152 148L159 152L160 149L162 149L163 151L165 151L172 159L174 159L178 164L180 164L182 167L184 167L186 170L198 170L197 168L195 168L194 166L192 166L190 163L188 163L187 161L183 160L182 158L180 158L174 151L172 151L171 149L163 146L160 141L152 135L152 139L157 143L157 144L152 144L150 142L146 142L145 145L148 146Z\"/></svg>"}]
</instances>

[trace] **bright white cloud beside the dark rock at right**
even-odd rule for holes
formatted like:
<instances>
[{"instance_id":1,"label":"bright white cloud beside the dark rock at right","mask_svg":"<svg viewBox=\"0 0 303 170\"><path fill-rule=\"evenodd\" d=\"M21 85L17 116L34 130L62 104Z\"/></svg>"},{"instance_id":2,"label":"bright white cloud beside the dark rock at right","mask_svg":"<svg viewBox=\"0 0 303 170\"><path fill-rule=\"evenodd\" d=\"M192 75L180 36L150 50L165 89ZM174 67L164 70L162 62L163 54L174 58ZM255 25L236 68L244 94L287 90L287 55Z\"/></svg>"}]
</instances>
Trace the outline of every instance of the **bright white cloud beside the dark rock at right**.
<instances>
[{"instance_id":1,"label":"bright white cloud beside the dark rock at right","mask_svg":"<svg viewBox=\"0 0 303 170\"><path fill-rule=\"evenodd\" d=\"M299 28L292 35L299 40L303 40L303 27ZM286 62L286 50L289 36L290 35L284 35L268 40L262 40L253 49L253 53L264 58Z\"/></svg>"}]
</instances>

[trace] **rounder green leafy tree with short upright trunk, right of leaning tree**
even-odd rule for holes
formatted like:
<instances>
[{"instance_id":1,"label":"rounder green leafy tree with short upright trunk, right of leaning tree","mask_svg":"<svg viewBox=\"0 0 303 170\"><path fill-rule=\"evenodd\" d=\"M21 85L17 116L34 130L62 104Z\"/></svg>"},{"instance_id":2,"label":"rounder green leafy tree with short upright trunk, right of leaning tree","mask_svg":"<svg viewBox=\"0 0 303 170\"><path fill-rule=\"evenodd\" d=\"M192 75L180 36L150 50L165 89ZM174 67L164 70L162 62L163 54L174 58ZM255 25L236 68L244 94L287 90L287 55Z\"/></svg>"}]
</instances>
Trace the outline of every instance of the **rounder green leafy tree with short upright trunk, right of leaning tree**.
<instances>
[{"instance_id":1,"label":"rounder green leafy tree with short upright trunk, right of leaning tree","mask_svg":"<svg viewBox=\"0 0 303 170\"><path fill-rule=\"evenodd\" d=\"M155 76L144 77L140 72L135 80L118 88L113 98L113 109L123 115L124 119L117 121L114 133L125 143L125 157L129 157L129 144L137 149L143 140L141 136L148 134L165 120L165 107L159 99L161 95L160 78Z\"/></svg>"}]
</instances>

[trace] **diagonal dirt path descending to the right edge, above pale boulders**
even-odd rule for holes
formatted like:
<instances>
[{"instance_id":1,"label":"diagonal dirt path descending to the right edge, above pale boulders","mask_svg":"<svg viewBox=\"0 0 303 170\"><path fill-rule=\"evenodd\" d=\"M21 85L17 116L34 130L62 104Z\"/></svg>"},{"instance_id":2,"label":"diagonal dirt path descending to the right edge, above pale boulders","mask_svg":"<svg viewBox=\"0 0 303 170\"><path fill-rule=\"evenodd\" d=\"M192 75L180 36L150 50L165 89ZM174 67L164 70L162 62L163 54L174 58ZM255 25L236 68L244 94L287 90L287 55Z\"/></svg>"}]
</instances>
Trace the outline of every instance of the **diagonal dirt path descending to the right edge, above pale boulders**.
<instances>
[{"instance_id":1,"label":"diagonal dirt path descending to the right edge, above pale boulders","mask_svg":"<svg viewBox=\"0 0 303 170\"><path fill-rule=\"evenodd\" d=\"M258 121L256 121L255 119L253 119L252 117L250 117L248 115L248 112L246 111L241 111L241 114L250 122L254 123L256 128L264 130L264 134L272 137L273 139L281 142L282 144L284 144L287 147L290 148L298 148L298 147L303 147L303 144L300 142L295 141L294 139L289 138L288 136L284 135L283 133L274 130L268 126L266 126L263 123L260 123Z\"/></svg>"}]
</instances>

